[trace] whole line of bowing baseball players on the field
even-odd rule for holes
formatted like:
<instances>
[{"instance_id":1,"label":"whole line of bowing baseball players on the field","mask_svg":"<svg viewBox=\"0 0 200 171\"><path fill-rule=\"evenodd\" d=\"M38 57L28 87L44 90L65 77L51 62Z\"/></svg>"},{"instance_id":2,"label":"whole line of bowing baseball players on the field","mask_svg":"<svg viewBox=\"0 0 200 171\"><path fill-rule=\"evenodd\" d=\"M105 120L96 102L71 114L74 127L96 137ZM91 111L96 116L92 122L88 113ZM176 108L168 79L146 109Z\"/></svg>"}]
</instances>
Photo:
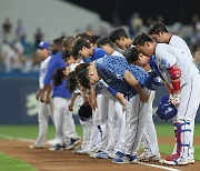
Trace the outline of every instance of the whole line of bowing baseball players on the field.
<instances>
[{"instance_id":1,"label":"whole line of bowing baseball players on the field","mask_svg":"<svg viewBox=\"0 0 200 171\"><path fill-rule=\"evenodd\" d=\"M49 49L47 42L41 42L38 53L49 53ZM46 56L41 63L40 89L37 92L37 99L42 101L39 137L32 148L44 145L48 113L53 113L49 115L53 115L56 127L56 144L50 150L73 149L80 143L71 115L78 99L80 105L89 102L93 114L89 119L80 118L83 142L74 152L112 159L114 163L160 161L182 165L194 162L199 70L187 43L168 32L163 23L154 22L148 33L140 33L134 40L121 28L112 30L108 38L91 38L86 33L77 38L59 38L53 40L51 52L51 57ZM164 160L160 157L152 119L154 91L144 88L143 83L151 71L149 61L152 56L158 76L162 76L169 90L170 101L178 109L173 118L176 147ZM68 90L73 92L72 98ZM140 144L142 153L138 157Z\"/></svg>"}]
</instances>

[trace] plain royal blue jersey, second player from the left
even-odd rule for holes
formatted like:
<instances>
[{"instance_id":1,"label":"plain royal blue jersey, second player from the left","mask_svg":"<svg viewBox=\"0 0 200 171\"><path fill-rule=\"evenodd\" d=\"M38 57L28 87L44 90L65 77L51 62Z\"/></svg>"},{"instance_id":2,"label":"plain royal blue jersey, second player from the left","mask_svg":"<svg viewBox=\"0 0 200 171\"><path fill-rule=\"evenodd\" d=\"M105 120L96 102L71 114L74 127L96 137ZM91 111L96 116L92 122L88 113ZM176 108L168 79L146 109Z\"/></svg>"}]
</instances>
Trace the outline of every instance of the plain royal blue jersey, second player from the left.
<instances>
[{"instance_id":1,"label":"plain royal blue jersey, second player from the left","mask_svg":"<svg viewBox=\"0 0 200 171\"><path fill-rule=\"evenodd\" d=\"M44 86L51 84L52 76L57 69L66 67L66 62L62 60L62 52L58 52L51 57L51 60L49 61L48 71L44 78ZM53 98L71 98L71 93L66 88L67 81L62 81L62 83L58 87L53 86Z\"/></svg>"}]
</instances>

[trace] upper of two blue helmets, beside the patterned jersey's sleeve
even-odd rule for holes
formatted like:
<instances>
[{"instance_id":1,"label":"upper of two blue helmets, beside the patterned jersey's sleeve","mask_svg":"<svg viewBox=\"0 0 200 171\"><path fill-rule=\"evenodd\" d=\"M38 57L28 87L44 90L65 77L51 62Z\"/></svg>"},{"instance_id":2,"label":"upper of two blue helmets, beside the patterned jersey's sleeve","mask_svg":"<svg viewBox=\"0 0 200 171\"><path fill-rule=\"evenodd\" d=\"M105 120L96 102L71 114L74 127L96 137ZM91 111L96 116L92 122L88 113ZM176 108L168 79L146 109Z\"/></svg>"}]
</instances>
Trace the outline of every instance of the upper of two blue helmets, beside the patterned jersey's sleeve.
<instances>
[{"instance_id":1,"label":"upper of two blue helmets, beside the patterned jersey's sleeve","mask_svg":"<svg viewBox=\"0 0 200 171\"><path fill-rule=\"evenodd\" d=\"M158 74L156 72L149 72L143 86L149 90L157 90L161 86Z\"/></svg>"}]
</instances>

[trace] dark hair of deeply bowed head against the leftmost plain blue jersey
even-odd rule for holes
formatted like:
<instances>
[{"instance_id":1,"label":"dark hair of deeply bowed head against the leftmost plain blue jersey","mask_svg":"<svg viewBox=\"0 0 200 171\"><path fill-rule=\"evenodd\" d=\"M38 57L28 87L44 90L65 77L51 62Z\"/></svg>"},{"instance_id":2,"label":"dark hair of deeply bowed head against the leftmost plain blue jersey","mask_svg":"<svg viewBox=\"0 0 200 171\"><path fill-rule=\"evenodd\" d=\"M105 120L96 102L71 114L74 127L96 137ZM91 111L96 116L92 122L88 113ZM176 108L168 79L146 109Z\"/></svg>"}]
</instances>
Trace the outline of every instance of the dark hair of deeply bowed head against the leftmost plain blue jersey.
<instances>
[{"instance_id":1,"label":"dark hair of deeply bowed head against the leftmost plain blue jersey","mask_svg":"<svg viewBox=\"0 0 200 171\"><path fill-rule=\"evenodd\" d=\"M77 77L76 77L76 71L72 71L68 76L67 89L70 92L73 92L77 89L77 87L78 87L78 81L77 81Z\"/></svg>"}]
</instances>

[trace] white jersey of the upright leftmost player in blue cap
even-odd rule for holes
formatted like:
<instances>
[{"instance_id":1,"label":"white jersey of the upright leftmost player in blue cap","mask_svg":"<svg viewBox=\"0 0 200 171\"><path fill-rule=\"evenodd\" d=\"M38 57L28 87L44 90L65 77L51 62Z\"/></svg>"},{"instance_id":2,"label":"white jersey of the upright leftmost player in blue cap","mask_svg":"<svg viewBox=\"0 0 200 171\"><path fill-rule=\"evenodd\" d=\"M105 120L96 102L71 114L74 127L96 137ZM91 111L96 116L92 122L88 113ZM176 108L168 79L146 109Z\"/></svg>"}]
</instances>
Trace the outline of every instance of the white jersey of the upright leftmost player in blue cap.
<instances>
[{"instance_id":1,"label":"white jersey of the upright leftmost player in blue cap","mask_svg":"<svg viewBox=\"0 0 200 171\"><path fill-rule=\"evenodd\" d=\"M51 57L49 56L43 61L41 61L40 73L39 73L39 88L40 89L43 88L43 80L44 80L46 74L47 74L47 70L48 70L48 67L49 67L50 59L51 59Z\"/></svg>"}]
</instances>

